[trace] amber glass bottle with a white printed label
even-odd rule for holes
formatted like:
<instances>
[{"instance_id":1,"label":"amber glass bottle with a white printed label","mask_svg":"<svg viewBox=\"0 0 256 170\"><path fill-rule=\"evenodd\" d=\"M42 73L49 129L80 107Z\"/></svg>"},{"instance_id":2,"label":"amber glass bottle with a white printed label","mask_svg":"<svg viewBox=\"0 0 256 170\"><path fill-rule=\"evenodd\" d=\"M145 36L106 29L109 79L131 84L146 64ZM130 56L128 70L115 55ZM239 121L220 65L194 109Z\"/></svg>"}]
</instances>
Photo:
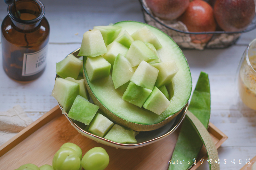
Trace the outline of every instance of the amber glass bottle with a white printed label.
<instances>
[{"instance_id":1,"label":"amber glass bottle with a white printed label","mask_svg":"<svg viewBox=\"0 0 256 170\"><path fill-rule=\"evenodd\" d=\"M16 11L17 9L17 11ZM8 6L2 32L5 73L18 81L38 78L45 69L50 27L39 0L17 0Z\"/></svg>"}]
</instances>

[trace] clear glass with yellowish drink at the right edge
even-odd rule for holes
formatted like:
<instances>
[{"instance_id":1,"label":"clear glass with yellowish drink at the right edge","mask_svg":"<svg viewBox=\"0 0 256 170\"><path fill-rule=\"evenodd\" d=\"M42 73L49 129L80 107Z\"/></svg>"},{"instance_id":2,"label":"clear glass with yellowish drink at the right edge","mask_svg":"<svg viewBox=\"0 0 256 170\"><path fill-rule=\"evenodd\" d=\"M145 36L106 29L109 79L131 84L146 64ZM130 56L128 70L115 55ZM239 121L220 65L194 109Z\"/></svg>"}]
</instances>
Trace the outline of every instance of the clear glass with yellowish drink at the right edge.
<instances>
[{"instance_id":1,"label":"clear glass with yellowish drink at the right edge","mask_svg":"<svg viewBox=\"0 0 256 170\"><path fill-rule=\"evenodd\" d=\"M243 103L256 110L256 39L244 51L238 72L238 91Z\"/></svg>"}]
</instances>

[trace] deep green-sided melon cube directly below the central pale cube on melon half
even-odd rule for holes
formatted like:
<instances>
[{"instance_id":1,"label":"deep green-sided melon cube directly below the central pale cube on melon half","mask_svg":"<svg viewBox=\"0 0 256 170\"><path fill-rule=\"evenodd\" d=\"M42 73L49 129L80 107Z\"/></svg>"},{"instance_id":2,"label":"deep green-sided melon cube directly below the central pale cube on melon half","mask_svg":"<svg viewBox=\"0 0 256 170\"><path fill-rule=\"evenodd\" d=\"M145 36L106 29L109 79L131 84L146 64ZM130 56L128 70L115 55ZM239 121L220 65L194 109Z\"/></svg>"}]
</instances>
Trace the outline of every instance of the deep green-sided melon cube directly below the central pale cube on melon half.
<instances>
[{"instance_id":1,"label":"deep green-sided melon cube directly below the central pale cube on melon half","mask_svg":"<svg viewBox=\"0 0 256 170\"><path fill-rule=\"evenodd\" d=\"M151 92L152 90L140 87L130 81L122 98L131 104L142 107Z\"/></svg>"}]
</instances>

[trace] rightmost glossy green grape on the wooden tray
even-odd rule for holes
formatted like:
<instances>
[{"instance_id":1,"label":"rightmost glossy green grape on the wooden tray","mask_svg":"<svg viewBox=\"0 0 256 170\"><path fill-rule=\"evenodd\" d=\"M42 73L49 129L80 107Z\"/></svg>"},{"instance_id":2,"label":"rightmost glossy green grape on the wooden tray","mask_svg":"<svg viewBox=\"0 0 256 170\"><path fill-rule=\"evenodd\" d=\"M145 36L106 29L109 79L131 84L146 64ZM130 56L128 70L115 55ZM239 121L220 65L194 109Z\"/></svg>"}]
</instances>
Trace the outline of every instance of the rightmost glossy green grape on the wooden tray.
<instances>
[{"instance_id":1,"label":"rightmost glossy green grape on the wooden tray","mask_svg":"<svg viewBox=\"0 0 256 170\"><path fill-rule=\"evenodd\" d=\"M81 161L85 170L103 170L108 166L108 163L108 153L101 147L95 147L87 151Z\"/></svg>"}]
</instances>

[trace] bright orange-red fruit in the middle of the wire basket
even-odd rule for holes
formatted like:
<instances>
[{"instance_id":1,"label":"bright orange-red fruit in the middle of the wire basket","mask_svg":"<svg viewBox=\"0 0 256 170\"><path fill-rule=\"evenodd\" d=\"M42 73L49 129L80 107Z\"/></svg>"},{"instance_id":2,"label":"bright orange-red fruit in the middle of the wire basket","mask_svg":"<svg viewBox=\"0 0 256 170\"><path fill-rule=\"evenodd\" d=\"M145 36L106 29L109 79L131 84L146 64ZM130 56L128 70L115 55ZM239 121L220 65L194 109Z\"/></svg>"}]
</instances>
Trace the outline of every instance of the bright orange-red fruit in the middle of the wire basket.
<instances>
[{"instance_id":1,"label":"bright orange-red fruit in the middle of the wire basket","mask_svg":"<svg viewBox=\"0 0 256 170\"><path fill-rule=\"evenodd\" d=\"M213 9L203 0L190 2L179 20L187 26L190 32L209 32L216 29ZM190 37L193 43L206 43L211 39L212 34L190 34Z\"/></svg>"}]
</instances>

